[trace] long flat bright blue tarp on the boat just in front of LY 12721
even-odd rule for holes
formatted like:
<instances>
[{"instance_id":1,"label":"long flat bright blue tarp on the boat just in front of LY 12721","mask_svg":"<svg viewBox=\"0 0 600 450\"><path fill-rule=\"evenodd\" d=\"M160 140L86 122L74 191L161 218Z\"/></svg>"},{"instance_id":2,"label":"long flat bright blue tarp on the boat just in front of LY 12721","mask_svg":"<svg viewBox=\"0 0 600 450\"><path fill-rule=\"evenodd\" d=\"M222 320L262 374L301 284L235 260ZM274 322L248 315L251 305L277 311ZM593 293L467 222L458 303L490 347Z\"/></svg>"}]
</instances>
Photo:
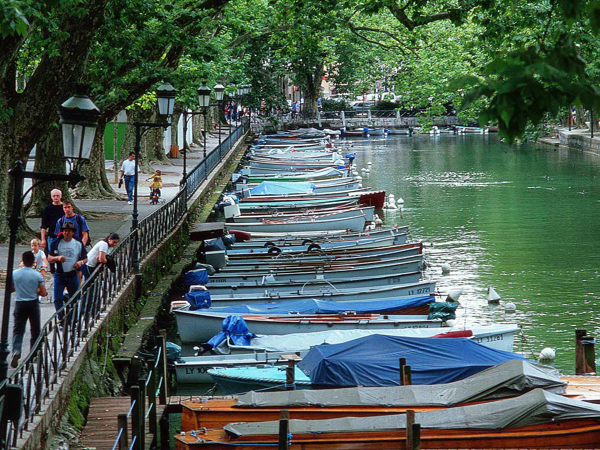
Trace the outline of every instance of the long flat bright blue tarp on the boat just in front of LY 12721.
<instances>
[{"instance_id":1,"label":"long flat bright blue tarp on the boat just in front of LY 12721","mask_svg":"<svg viewBox=\"0 0 600 450\"><path fill-rule=\"evenodd\" d=\"M249 305L217 307L212 308L211 311L235 314L340 314L344 313L344 311L353 311L356 312L356 314L383 314L391 311L403 310L405 308L427 305L433 301L435 301L435 298L431 295L393 300L363 300L350 302L332 302L309 298L291 302L255 303Z\"/></svg>"}]
</instances>

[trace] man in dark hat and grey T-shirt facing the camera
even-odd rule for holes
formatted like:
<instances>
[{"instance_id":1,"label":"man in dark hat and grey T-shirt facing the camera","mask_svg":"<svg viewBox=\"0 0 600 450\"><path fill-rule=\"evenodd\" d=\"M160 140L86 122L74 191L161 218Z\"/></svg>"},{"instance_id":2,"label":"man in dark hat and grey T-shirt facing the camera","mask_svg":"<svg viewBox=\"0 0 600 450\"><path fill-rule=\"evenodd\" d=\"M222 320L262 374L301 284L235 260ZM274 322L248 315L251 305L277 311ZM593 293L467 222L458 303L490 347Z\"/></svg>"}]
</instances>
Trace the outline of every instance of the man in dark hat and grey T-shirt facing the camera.
<instances>
[{"instance_id":1,"label":"man in dark hat and grey T-shirt facing the camera","mask_svg":"<svg viewBox=\"0 0 600 450\"><path fill-rule=\"evenodd\" d=\"M56 311L62 308L65 287L71 298L79 289L77 271L88 262L88 252L85 244L73 234L75 227L71 222L62 224L62 233L50 245L48 263L54 274L54 307ZM62 319L63 314L59 314Z\"/></svg>"}]
</instances>

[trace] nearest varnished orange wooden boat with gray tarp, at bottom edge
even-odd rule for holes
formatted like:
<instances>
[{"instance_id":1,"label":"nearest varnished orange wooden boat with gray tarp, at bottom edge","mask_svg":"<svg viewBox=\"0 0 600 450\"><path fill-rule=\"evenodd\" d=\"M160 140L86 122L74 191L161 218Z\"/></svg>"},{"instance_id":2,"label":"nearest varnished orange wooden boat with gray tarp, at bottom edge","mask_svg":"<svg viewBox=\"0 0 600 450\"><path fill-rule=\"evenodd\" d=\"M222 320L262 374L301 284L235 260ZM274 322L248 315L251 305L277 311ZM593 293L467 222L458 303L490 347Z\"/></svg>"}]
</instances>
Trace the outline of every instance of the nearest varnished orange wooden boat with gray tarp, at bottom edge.
<instances>
[{"instance_id":1,"label":"nearest varnished orange wooden boat with gray tarp, at bottom edge","mask_svg":"<svg viewBox=\"0 0 600 450\"><path fill-rule=\"evenodd\" d=\"M600 441L600 406L545 392L448 409L419 411L421 448L595 448ZM176 449L244 449L278 442L279 422L230 423L223 429L175 436ZM318 421L292 419L296 449L404 449L406 414L343 417Z\"/></svg>"}]
</instances>

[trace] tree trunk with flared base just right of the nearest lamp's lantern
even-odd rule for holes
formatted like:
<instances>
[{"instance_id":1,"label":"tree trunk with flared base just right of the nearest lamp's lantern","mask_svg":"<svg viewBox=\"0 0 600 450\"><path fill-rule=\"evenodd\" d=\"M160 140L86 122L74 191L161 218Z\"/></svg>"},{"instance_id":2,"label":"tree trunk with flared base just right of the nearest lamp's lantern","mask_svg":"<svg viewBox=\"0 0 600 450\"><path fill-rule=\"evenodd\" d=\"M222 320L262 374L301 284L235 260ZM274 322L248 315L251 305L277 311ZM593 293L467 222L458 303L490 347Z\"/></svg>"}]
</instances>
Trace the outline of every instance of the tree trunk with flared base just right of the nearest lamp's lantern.
<instances>
[{"instance_id":1,"label":"tree trunk with flared base just right of the nearest lamp's lantern","mask_svg":"<svg viewBox=\"0 0 600 450\"><path fill-rule=\"evenodd\" d=\"M82 164L80 172L85 181L80 182L74 193L76 199L123 200L122 194L116 193L106 177L104 160L104 129L106 119L98 119L98 128L94 136L91 157L88 164Z\"/></svg>"}]
</instances>

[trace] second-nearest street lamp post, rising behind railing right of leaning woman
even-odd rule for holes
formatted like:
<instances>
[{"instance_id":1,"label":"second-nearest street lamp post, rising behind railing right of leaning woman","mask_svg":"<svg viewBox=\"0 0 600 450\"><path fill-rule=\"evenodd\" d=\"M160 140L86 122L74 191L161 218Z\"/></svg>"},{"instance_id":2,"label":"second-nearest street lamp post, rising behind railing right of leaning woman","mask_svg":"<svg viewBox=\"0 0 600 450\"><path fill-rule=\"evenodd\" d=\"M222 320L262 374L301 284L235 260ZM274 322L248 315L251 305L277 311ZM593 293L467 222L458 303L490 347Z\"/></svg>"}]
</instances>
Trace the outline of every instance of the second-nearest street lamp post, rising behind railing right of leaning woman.
<instances>
[{"instance_id":1,"label":"second-nearest street lamp post, rising behind railing right of leaning woman","mask_svg":"<svg viewBox=\"0 0 600 450\"><path fill-rule=\"evenodd\" d=\"M146 131L151 128L164 128L166 130L171 126L168 119L173 115L173 107L175 106L175 95L177 91L173 88L170 83L163 83L156 90L156 97L158 103L158 114L161 116L166 116L164 122L133 122L133 126L136 127L136 145L134 146L134 152L136 153L136 172L134 174L134 186L133 186L133 214L131 217L131 231L137 230L137 226L139 224L137 217L137 172L138 172L138 164L140 160L140 149L142 143L142 136ZM136 233L135 242L133 246L133 268L136 271L136 274L140 271L140 256L139 256L139 248L138 248L138 236Z\"/></svg>"}]
</instances>

